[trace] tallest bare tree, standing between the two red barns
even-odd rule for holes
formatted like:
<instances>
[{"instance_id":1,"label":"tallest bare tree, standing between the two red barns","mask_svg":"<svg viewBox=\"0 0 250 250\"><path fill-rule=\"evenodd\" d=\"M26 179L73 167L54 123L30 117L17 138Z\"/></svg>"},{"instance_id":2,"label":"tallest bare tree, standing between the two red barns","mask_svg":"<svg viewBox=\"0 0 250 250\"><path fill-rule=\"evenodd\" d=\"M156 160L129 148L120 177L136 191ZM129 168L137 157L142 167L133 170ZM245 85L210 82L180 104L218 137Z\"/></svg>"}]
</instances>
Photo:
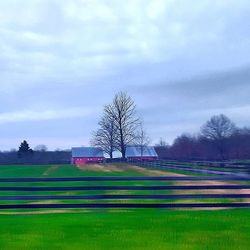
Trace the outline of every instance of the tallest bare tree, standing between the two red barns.
<instances>
[{"instance_id":1,"label":"tallest bare tree, standing between the two red barns","mask_svg":"<svg viewBox=\"0 0 250 250\"><path fill-rule=\"evenodd\" d=\"M136 105L130 96L120 92L115 95L112 104L104 107L104 113L114 121L117 149L121 152L122 158L125 158L126 147L136 141L139 124Z\"/></svg>"}]
</instances>

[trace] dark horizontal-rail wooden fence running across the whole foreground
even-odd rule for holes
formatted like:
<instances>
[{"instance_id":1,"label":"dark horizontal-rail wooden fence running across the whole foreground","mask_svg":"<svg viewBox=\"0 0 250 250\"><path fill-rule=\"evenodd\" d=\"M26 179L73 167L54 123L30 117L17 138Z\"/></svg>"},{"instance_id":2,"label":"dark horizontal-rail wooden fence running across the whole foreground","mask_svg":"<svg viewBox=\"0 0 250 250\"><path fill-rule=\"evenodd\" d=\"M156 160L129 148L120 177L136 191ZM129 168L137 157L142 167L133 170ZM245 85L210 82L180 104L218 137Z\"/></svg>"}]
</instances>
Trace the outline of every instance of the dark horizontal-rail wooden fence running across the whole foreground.
<instances>
[{"instance_id":1,"label":"dark horizontal-rail wooden fence running across the whole foreground","mask_svg":"<svg viewBox=\"0 0 250 250\"><path fill-rule=\"evenodd\" d=\"M126 181L126 185L120 182ZM148 181L157 182L154 185L148 184ZM192 181L190 185L183 183ZM221 181L221 185L196 185L195 182L201 181ZM233 184L223 184L229 181ZM63 182L73 182L77 186L51 186ZM108 182L108 183L107 183ZM167 182L167 184L165 183ZM175 183L177 182L177 183ZM19 186L22 183L22 186ZM40 186L37 186L37 185ZM85 183L85 184L84 184ZM91 185L86 185L90 184ZM98 185L96 185L96 183ZM112 185L110 185L110 183ZM128 185L132 183L132 185ZM169 184L171 183L171 184ZM6 186L7 184L7 186ZM43 186L46 184L46 186ZM100 185L102 184L102 185ZM108 185L107 185L108 184ZM175 185L176 184L176 185ZM26 186L23 186L26 185ZM63 184L64 185L64 184ZM92 191L154 191L153 194L96 194ZM176 193L155 193L164 190L197 190L200 194L176 194ZM202 193L206 190L206 193ZM234 190L233 193L207 193L207 190ZM244 193L235 191L245 190ZM59 208L249 208L250 203L250 179L237 176L141 176L141 177L65 177L65 178L0 178L0 209L59 209ZM58 191L87 191L87 194L78 195L40 195L39 192L58 192ZM15 194L9 194L15 192ZM18 192L22 192L21 195ZM25 194L23 194L25 192ZM37 195L37 193L39 195ZM192 199L190 203L178 203L184 199ZM202 199L202 202L200 202ZM216 199L213 202L207 202L206 199ZM222 202L220 199L234 199L233 201ZM242 200L243 199L243 200ZM34 201L71 201L71 203L60 204L34 204ZM88 201L91 203L73 203L73 201ZM140 200L140 202L138 202ZM205 202L203 202L203 200ZM24 204L12 204L11 202L25 202ZM33 202L32 202L33 201ZM122 201L122 202L121 202ZM148 201L151 201L148 203ZM217 202L218 201L218 202ZM176 203L177 202L177 203Z\"/></svg>"}]
</instances>

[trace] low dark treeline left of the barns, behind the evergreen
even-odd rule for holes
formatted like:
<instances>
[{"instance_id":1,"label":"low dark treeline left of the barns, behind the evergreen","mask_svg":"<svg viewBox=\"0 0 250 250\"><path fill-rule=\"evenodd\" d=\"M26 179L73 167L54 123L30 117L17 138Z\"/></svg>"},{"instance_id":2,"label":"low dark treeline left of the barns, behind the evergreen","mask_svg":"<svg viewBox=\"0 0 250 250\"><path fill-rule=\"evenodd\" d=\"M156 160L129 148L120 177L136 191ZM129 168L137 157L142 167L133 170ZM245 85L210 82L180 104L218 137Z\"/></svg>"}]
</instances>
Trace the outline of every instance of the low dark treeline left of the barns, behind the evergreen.
<instances>
[{"instance_id":1,"label":"low dark treeline left of the barns, behind the evergreen","mask_svg":"<svg viewBox=\"0 0 250 250\"><path fill-rule=\"evenodd\" d=\"M33 151L20 157L17 151L0 152L0 164L69 164L71 151Z\"/></svg>"}]
</instances>

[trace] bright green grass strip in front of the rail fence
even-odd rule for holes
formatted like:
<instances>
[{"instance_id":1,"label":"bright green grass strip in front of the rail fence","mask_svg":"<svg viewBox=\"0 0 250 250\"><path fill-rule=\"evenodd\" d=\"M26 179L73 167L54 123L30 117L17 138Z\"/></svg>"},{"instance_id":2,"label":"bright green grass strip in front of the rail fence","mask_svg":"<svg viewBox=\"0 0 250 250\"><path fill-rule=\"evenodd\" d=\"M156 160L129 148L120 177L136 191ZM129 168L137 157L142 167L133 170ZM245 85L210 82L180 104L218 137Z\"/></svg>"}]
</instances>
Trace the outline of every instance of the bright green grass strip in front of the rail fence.
<instances>
[{"instance_id":1,"label":"bright green grass strip in front of the rail fence","mask_svg":"<svg viewBox=\"0 0 250 250\"><path fill-rule=\"evenodd\" d=\"M0 249L249 249L249 210L0 216Z\"/></svg>"}]
</instances>

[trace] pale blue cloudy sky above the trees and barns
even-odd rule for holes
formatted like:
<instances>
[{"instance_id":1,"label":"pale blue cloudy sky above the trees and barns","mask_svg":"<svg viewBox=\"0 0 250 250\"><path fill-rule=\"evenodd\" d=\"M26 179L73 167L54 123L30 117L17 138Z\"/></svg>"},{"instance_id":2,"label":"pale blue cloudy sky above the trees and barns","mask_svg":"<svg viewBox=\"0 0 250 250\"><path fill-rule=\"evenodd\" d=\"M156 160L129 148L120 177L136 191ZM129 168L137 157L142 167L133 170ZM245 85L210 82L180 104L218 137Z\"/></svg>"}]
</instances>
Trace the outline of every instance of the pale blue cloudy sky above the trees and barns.
<instances>
[{"instance_id":1,"label":"pale blue cloudy sky above the trees and barns","mask_svg":"<svg viewBox=\"0 0 250 250\"><path fill-rule=\"evenodd\" d=\"M152 141L250 126L249 0L0 0L0 149L88 145L117 91Z\"/></svg>"}]
</instances>

